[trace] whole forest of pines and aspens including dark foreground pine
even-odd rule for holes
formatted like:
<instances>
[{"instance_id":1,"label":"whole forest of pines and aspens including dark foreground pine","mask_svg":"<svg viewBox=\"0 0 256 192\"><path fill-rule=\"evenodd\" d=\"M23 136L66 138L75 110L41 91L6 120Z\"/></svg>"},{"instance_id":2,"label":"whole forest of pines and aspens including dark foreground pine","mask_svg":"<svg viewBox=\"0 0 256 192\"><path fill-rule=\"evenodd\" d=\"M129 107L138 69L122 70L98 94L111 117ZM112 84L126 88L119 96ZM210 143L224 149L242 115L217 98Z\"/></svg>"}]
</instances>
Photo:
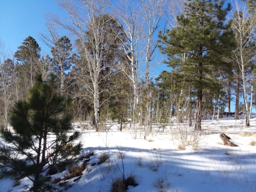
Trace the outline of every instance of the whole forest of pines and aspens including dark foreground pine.
<instances>
[{"instance_id":1,"label":"whole forest of pines and aspens including dark foreground pine","mask_svg":"<svg viewBox=\"0 0 256 192\"><path fill-rule=\"evenodd\" d=\"M242 114L250 127L255 0L57 3L67 17L48 14L40 42L24 37L10 55L0 41L1 137L13 144L1 146L0 177L28 177L33 191L46 187L39 175L57 173L59 162L68 165L81 150L74 144L81 134L68 134L73 122L88 122L81 126L97 133L117 122L134 139L147 139L156 127L164 132L174 117L196 134L206 118ZM50 52L42 54L40 43ZM161 66L168 70L156 73Z\"/></svg>"}]
</instances>

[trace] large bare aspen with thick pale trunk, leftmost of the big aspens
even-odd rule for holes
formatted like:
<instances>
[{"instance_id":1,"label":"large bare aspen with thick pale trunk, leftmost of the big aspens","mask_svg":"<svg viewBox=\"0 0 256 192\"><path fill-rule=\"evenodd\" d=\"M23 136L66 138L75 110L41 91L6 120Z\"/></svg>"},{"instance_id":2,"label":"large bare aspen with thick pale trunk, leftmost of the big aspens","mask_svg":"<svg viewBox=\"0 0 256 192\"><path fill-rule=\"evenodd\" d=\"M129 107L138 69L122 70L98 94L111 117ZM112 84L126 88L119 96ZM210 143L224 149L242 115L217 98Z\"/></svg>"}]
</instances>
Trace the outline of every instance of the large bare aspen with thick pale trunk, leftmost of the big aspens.
<instances>
[{"instance_id":1,"label":"large bare aspen with thick pale trunk, leftmost of the big aspens","mask_svg":"<svg viewBox=\"0 0 256 192\"><path fill-rule=\"evenodd\" d=\"M105 79L104 74L108 63L106 55L111 55L112 48L110 41L115 40L112 36L106 35L106 23L109 17L105 17L108 12L110 2L107 0L74 0L58 1L58 4L69 13L69 18L65 22L52 15L51 22L59 24L76 37L77 48L81 50L80 56L84 65L83 70L89 75L90 82L84 80L84 87L91 93L89 98L94 104L94 122L96 131L99 131L100 113L100 84ZM108 63L114 65L114 63ZM108 66L111 68L111 66Z\"/></svg>"}]
</instances>

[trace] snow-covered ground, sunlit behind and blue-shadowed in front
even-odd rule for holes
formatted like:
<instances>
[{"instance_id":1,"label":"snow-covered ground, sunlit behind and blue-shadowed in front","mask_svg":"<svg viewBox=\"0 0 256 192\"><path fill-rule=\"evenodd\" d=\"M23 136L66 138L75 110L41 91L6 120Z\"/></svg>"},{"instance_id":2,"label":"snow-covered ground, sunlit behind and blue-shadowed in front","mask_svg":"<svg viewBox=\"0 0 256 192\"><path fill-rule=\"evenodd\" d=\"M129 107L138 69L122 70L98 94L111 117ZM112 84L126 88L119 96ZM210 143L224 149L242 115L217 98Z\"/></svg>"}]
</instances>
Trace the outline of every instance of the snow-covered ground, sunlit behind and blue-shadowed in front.
<instances>
[{"instance_id":1,"label":"snow-covered ground, sunlit behind and blue-shadowed in front","mask_svg":"<svg viewBox=\"0 0 256 192\"><path fill-rule=\"evenodd\" d=\"M133 175L138 183L136 187L129 186L129 192L256 191L256 146L249 145L256 141L256 119L251 119L251 127L246 128L244 119L232 118L204 120L203 131L196 137L186 125L175 123L172 129L166 126L164 132L157 129L146 140L139 130L134 139L130 125L122 132L116 123L110 123L109 131L104 133L83 131L81 155L94 155L82 177L75 182L76 178L69 180L71 187L67 191L111 191L113 181L122 175ZM247 132L253 134L243 136ZM221 133L239 146L223 145ZM182 138L184 134L187 140ZM191 144L179 150L178 145L184 140ZM110 159L98 165L98 158L104 153ZM51 181L65 174L67 170L53 175ZM30 184L25 178L13 187L12 181L4 180L0 181L0 191L27 191L26 185Z\"/></svg>"}]
</instances>

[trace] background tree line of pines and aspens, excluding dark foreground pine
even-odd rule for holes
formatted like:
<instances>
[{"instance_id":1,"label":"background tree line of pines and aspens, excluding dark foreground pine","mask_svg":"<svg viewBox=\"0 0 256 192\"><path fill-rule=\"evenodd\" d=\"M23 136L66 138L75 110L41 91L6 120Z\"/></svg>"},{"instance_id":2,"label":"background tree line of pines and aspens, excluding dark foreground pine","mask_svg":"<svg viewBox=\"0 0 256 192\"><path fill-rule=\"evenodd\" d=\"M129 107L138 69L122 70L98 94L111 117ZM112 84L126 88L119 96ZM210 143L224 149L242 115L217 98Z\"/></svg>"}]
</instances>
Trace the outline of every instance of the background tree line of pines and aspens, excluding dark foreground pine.
<instances>
[{"instance_id":1,"label":"background tree line of pines and aspens, excluding dark foreground pine","mask_svg":"<svg viewBox=\"0 0 256 192\"><path fill-rule=\"evenodd\" d=\"M1 44L1 117L6 126L14 103L27 98L37 74L56 74L60 94L74 99L76 120L90 120L96 131L107 119L130 127L189 119L201 130L206 114L221 114L231 102L234 118L254 103L255 1L57 1L68 13L46 18L41 55L29 36L7 57ZM229 14L229 17L228 16ZM68 35L60 35L59 29ZM71 39L74 39L71 41ZM170 67L155 79L158 62ZM160 59L159 59L160 60ZM178 99L179 98L179 99ZM241 103L241 98L243 103ZM219 118L219 115L218 115ZM135 137L136 137L136 129ZM145 132L145 137L147 132Z\"/></svg>"}]
</instances>

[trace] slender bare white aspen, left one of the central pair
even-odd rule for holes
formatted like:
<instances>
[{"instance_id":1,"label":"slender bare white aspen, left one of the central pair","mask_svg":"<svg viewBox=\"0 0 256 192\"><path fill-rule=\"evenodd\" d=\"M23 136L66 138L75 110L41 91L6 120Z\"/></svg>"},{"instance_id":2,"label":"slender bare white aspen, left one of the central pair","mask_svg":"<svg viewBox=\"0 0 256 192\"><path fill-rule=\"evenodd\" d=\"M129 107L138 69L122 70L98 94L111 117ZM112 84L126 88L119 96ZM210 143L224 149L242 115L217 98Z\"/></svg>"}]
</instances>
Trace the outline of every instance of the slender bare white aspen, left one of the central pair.
<instances>
[{"instance_id":1,"label":"slender bare white aspen, left one of the central pair","mask_svg":"<svg viewBox=\"0 0 256 192\"><path fill-rule=\"evenodd\" d=\"M123 70L129 76L133 85L133 128L135 129L135 109L139 103L139 81L143 74L140 74L141 54L143 53L144 37L143 26L145 20L140 16L138 7L134 6L131 1L124 0L120 2L117 15L120 24L123 26L123 33L126 37L126 42L123 42L123 50L130 61L130 69ZM134 138L137 137L135 130Z\"/></svg>"}]
</instances>

